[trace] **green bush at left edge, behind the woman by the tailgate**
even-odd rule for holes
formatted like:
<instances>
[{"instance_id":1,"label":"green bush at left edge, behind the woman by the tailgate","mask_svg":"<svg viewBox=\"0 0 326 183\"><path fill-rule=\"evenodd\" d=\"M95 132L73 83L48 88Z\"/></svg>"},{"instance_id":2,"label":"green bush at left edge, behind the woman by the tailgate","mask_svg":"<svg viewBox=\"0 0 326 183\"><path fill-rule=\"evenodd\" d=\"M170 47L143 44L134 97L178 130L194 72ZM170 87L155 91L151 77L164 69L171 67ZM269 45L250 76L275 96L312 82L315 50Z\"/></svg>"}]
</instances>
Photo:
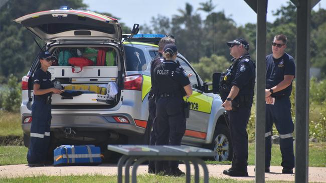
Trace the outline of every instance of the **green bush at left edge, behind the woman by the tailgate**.
<instances>
[{"instance_id":1,"label":"green bush at left edge, behind the woman by the tailgate","mask_svg":"<svg viewBox=\"0 0 326 183\"><path fill-rule=\"evenodd\" d=\"M2 107L10 112L18 112L21 105L21 83L13 74L10 74L8 83L4 85L2 94Z\"/></svg>"}]
</instances>

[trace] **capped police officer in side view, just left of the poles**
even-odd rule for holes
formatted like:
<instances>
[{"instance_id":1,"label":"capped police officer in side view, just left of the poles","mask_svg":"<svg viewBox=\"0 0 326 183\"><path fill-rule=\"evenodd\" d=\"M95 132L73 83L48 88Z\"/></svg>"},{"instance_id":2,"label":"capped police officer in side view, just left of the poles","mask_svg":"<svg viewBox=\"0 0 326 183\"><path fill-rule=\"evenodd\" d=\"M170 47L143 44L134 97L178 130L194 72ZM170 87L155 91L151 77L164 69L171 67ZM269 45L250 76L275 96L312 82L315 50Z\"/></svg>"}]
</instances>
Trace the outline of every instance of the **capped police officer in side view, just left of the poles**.
<instances>
[{"instance_id":1,"label":"capped police officer in side view, just left of the poles","mask_svg":"<svg viewBox=\"0 0 326 183\"><path fill-rule=\"evenodd\" d=\"M248 134L246 131L253 102L255 64L248 53L249 44L243 38L227 42L232 65L221 77L222 106L229 117L230 135L233 144L231 168L223 173L229 176L248 176Z\"/></svg>"}]
</instances>

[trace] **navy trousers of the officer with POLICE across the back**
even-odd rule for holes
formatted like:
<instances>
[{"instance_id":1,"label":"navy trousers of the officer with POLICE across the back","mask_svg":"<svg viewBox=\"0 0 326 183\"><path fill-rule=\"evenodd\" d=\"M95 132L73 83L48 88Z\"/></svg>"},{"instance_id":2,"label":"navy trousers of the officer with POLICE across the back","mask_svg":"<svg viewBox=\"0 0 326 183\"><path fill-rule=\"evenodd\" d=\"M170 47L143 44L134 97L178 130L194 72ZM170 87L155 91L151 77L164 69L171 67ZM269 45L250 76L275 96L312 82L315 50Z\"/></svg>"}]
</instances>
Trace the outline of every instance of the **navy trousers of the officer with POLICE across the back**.
<instances>
[{"instance_id":1,"label":"navy trousers of the officer with POLICE across the back","mask_svg":"<svg viewBox=\"0 0 326 183\"><path fill-rule=\"evenodd\" d=\"M181 145L181 139L186 131L184 104L185 101L182 97L158 98L154 122L156 145ZM178 164L178 161L169 161L169 167L172 170L176 170ZM167 170L164 163L156 161L155 171L160 172L163 170Z\"/></svg>"}]
</instances>

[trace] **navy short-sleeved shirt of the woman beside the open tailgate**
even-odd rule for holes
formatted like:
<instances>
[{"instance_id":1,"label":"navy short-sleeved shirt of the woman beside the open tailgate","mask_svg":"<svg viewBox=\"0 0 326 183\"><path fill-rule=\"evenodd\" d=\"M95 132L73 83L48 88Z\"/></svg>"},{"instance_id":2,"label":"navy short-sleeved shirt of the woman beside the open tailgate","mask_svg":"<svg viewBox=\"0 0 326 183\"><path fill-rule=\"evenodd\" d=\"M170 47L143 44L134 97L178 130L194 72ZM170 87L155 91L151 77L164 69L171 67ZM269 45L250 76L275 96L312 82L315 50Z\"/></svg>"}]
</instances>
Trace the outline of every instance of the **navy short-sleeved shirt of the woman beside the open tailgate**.
<instances>
[{"instance_id":1,"label":"navy short-sleeved shirt of the woman beside the open tailgate","mask_svg":"<svg viewBox=\"0 0 326 183\"><path fill-rule=\"evenodd\" d=\"M49 71L43 71L41 68L38 68L34 73L34 84L40 84L40 89L48 89L53 86L53 83L51 82L51 73ZM51 92L42 94L42 95L35 95L35 99L46 99L51 95Z\"/></svg>"}]
</instances>

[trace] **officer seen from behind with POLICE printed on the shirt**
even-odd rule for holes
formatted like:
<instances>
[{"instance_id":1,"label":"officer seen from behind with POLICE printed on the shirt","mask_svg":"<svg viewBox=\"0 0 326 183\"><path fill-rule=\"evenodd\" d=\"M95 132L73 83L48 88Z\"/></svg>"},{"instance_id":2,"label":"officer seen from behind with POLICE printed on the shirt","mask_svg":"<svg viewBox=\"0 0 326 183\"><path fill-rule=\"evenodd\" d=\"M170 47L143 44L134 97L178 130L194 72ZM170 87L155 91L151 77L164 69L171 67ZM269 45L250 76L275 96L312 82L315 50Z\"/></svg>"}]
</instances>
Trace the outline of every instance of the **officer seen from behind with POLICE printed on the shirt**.
<instances>
[{"instance_id":1,"label":"officer seen from behind with POLICE printed on the shirt","mask_svg":"<svg viewBox=\"0 0 326 183\"><path fill-rule=\"evenodd\" d=\"M189 97L193 90L187 72L176 62L177 46L164 47L164 62L154 68L154 82L157 86L156 102L156 145L181 145L186 130L184 96ZM169 143L170 140L170 143ZM169 161L169 169L162 161L155 162L155 173L181 176L185 173L178 168L178 161Z\"/></svg>"}]
</instances>

